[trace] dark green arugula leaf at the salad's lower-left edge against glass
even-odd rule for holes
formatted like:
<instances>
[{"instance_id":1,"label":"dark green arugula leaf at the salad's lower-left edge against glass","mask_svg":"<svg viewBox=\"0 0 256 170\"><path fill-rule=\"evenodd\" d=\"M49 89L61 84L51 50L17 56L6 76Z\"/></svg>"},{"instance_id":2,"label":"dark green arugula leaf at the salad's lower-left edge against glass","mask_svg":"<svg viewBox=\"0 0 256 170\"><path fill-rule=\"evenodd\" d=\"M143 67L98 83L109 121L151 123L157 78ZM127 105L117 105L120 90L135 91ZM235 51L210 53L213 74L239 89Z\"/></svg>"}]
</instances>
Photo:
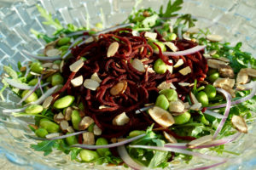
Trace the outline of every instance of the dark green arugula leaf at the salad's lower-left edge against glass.
<instances>
[{"instance_id":1,"label":"dark green arugula leaf at the salad's lower-left edge against glass","mask_svg":"<svg viewBox=\"0 0 256 170\"><path fill-rule=\"evenodd\" d=\"M45 140L38 144L31 144L32 149L37 151L44 151L44 156L48 156L52 152L55 140Z\"/></svg>"}]
</instances>

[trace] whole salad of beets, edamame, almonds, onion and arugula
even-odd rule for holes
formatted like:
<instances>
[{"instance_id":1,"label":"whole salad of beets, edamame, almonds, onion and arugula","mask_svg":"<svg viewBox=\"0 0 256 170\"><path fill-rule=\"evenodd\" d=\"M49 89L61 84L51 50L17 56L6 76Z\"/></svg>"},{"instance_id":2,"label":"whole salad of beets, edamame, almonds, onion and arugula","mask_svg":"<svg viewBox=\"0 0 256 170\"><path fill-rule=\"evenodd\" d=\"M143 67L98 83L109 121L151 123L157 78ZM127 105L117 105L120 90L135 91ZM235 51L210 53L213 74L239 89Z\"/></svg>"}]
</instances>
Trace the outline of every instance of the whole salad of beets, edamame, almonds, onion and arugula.
<instances>
[{"instance_id":1,"label":"whole salad of beets, edamame, almonds, onion and arugula","mask_svg":"<svg viewBox=\"0 0 256 170\"><path fill-rule=\"evenodd\" d=\"M3 66L3 88L20 97L12 116L33 116L32 149L62 150L71 160L133 169L165 168L193 156L216 167L221 153L255 119L256 59L177 14L183 0L160 12L135 9L124 23L102 30L61 26L44 8L52 36L41 54L15 71ZM164 10L165 8L165 10ZM218 153L204 154L201 150Z\"/></svg>"}]
</instances>

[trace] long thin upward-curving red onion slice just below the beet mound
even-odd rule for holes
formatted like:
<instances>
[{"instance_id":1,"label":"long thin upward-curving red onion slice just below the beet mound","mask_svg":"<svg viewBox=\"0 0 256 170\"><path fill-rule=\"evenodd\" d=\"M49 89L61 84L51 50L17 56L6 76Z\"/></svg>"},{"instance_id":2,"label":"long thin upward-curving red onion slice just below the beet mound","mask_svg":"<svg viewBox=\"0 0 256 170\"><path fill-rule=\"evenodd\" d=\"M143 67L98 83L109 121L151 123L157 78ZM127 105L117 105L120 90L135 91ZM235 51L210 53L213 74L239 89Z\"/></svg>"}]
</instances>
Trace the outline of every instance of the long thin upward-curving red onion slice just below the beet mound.
<instances>
[{"instance_id":1,"label":"long thin upward-curving red onion slice just below the beet mound","mask_svg":"<svg viewBox=\"0 0 256 170\"><path fill-rule=\"evenodd\" d=\"M102 148L113 148L113 147L118 147L120 145L131 143L132 141L137 140L137 139L141 139L145 135L146 134L141 134L134 138L126 139L124 141L114 143L114 144L105 144L105 145L73 144L72 147L78 147L78 148L89 149L89 150L96 150L96 149L102 149Z\"/></svg>"}]
</instances>

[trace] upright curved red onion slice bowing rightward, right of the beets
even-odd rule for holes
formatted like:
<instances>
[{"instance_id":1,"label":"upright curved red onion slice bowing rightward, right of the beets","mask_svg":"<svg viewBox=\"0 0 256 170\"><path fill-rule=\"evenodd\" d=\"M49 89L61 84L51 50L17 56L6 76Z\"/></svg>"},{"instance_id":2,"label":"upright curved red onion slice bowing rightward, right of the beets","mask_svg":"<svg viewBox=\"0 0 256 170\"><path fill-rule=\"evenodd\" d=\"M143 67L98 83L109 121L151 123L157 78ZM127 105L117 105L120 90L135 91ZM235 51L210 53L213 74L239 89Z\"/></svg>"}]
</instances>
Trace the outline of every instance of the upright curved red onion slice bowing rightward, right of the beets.
<instances>
[{"instance_id":1,"label":"upright curved red onion slice bowing rightward, right of the beets","mask_svg":"<svg viewBox=\"0 0 256 170\"><path fill-rule=\"evenodd\" d=\"M221 122L219 123L217 130L215 131L214 135L213 135L213 139L216 139L218 136L218 133L221 131L222 127L224 126L224 123L226 122L227 117L229 116L230 113L230 107L231 107L231 95L226 92L224 89L222 88L216 88L216 90L222 94L224 94L226 100L227 100L227 105L226 105L226 109L224 111L224 118L221 119Z\"/></svg>"}]
</instances>

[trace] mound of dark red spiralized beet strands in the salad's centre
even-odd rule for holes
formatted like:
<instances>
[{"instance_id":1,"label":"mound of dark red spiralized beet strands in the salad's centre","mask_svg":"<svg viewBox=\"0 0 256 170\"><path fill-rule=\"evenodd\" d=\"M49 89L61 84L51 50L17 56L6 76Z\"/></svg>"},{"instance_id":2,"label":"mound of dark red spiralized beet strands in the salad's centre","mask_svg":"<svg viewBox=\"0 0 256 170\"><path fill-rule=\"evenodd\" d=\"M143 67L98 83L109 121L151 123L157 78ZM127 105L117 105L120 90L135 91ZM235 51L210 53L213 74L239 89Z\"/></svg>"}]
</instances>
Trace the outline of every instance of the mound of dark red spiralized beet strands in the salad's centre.
<instances>
[{"instance_id":1,"label":"mound of dark red spiralized beet strands in the salad's centre","mask_svg":"<svg viewBox=\"0 0 256 170\"><path fill-rule=\"evenodd\" d=\"M161 82L172 82L177 88L177 93L180 94L180 99L184 99L184 94L187 94L191 88L179 86L178 82L192 83L195 79L202 81L208 70L207 60L202 55L203 51L187 56L168 57L163 55L160 46L154 43L160 52L154 54L153 48L144 37L144 32L139 37L134 37L131 31L128 28L120 28L99 35L94 42L72 48L73 57L67 59L63 66L63 75L67 82L60 91L53 95L57 99L61 93L67 90L68 94L80 97L85 108L84 115L94 119L96 125L102 129L102 137L107 139L118 138L133 129L145 130L154 123L147 113L135 114L135 111L147 103L155 102L159 91L156 87ZM165 41L157 31L156 33L160 42ZM116 54L107 57L108 48L112 42L118 42L119 48ZM193 48L197 45L188 40L173 42L179 50ZM86 58L84 66L76 73L71 72L69 65L81 57ZM149 72L148 67L153 67L154 61L159 58L166 65L172 65L169 59L172 59L173 64L177 62L177 59L183 59L184 64L174 68L172 74L170 71L166 71L165 74ZM138 71L134 68L131 65L131 59L143 59L143 65L147 65L145 71ZM192 72L183 76L178 71L186 66L189 66ZM70 81L74 77L82 75L84 79L90 79L95 72L102 80L100 87L95 91L84 88L84 86L72 87ZM127 82L125 90L117 95L112 95L111 89L121 81ZM113 118L122 112L129 116L130 121L124 126L113 125ZM194 139L193 137L180 137L169 130L166 132L177 139Z\"/></svg>"}]
</instances>

